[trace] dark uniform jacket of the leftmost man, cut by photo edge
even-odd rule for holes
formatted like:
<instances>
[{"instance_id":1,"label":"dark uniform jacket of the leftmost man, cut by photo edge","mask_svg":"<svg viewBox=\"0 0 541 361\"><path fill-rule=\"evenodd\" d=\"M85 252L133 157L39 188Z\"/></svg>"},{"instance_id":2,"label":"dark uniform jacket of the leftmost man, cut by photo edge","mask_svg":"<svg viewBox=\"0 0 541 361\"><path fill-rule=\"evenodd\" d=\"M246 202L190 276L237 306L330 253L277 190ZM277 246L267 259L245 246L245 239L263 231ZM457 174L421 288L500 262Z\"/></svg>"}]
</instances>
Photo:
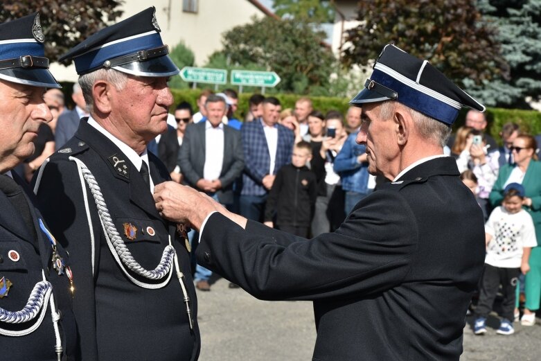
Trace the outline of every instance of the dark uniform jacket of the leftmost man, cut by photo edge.
<instances>
[{"instance_id":1,"label":"dark uniform jacket of the leftmost man, cut by photo edge","mask_svg":"<svg viewBox=\"0 0 541 361\"><path fill-rule=\"evenodd\" d=\"M2 288L0 294L3 295L0 299L0 308L11 312L22 310L35 284L43 281L42 270L45 270L47 281L53 285L56 309L61 313L59 326L64 350L62 360L76 360L77 332L71 312L68 276L65 271L59 275L53 270L51 265L53 248L39 226L39 219L43 220L43 217L33 205L33 193L17 175L13 174L13 179L24 188L34 229L28 229L19 211L0 191L0 288ZM48 227L46 223L44 226ZM64 260L64 264L69 266L69 257L60 245L57 246L57 252ZM11 284L9 290L6 286L8 280ZM77 279L75 278L74 281L76 282ZM21 331L35 324L37 319L39 315L23 324L8 324L0 321L0 328L6 331ZM56 361L55 344L51 305L48 304L42 324L33 333L20 337L0 335L0 360Z\"/></svg>"}]
</instances>

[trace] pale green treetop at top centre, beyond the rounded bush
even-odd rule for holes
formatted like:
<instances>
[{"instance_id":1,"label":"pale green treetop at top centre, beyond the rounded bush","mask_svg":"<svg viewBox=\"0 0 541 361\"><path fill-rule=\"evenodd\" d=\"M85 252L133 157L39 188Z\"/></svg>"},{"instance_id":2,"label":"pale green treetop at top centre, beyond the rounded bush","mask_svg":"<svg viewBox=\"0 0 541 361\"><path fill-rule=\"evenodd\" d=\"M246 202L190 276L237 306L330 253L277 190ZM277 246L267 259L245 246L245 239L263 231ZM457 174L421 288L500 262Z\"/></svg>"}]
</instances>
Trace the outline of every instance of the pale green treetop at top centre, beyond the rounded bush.
<instances>
[{"instance_id":1,"label":"pale green treetop at top centre, beyond the rounded bush","mask_svg":"<svg viewBox=\"0 0 541 361\"><path fill-rule=\"evenodd\" d=\"M280 17L289 16L297 20L314 23L330 23L335 19L331 1L320 0L274 0L274 12Z\"/></svg>"}]
</instances>

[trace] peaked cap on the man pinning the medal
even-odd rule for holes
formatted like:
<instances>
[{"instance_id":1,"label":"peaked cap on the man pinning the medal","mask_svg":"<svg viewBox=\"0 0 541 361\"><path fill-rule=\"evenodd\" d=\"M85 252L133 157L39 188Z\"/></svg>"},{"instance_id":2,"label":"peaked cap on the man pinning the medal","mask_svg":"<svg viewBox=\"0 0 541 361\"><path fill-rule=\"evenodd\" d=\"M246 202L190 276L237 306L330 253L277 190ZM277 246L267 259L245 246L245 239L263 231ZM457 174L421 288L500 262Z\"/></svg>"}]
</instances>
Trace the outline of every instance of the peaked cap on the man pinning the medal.
<instances>
[{"instance_id":1,"label":"peaked cap on the man pinning the medal","mask_svg":"<svg viewBox=\"0 0 541 361\"><path fill-rule=\"evenodd\" d=\"M364 103L396 100L447 125L452 125L461 107L485 111L484 105L427 60L415 58L392 44L384 47L373 68L351 105L362 107Z\"/></svg>"}]
</instances>

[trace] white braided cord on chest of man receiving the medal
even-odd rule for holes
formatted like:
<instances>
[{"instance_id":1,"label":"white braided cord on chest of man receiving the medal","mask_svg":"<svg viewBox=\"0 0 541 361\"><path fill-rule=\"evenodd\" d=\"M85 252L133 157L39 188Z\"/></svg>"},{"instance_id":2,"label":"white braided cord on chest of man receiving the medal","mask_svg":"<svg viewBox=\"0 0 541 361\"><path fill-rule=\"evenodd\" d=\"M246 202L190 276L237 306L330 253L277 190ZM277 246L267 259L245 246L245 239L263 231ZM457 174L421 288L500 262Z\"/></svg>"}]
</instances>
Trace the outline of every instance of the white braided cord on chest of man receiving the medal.
<instances>
[{"instance_id":1,"label":"white braided cord on chest of man receiving the medal","mask_svg":"<svg viewBox=\"0 0 541 361\"><path fill-rule=\"evenodd\" d=\"M82 176L87 181L90 192L94 197L96 207L98 208L98 215L100 217L100 221L102 222L106 238L111 242L109 248L112 248L111 251L113 253L113 256L118 256L118 258L115 257L116 261L121 261L132 272L138 274L139 276L143 276L146 279L159 280L163 279L164 276L168 276L169 279L171 276L173 257L175 256L175 248L173 248L172 245L167 245L166 248L163 249L163 254L161 255L161 260L157 267L154 270L145 270L145 268L143 268L139 263L137 263L137 261L135 261L130 250L127 248L123 239L121 238L120 234L118 234L111 215L109 214L109 209L107 209L107 204L105 204L105 199L103 198L103 194L101 193L100 186L98 186L98 182L96 182L96 178L94 177L94 175L92 175L90 170L82 161L80 161L80 159L77 159L75 157L69 157L69 159L76 162ZM132 279L132 277L130 277L130 279ZM166 280L166 282L168 281L168 279ZM132 279L132 281L136 280ZM141 285L142 287L145 287L146 285L145 283L139 283L140 282L136 282L136 284ZM163 285L161 285L161 287L163 287ZM156 285L148 286L149 287L145 288L156 288Z\"/></svg>"}]
</instances>

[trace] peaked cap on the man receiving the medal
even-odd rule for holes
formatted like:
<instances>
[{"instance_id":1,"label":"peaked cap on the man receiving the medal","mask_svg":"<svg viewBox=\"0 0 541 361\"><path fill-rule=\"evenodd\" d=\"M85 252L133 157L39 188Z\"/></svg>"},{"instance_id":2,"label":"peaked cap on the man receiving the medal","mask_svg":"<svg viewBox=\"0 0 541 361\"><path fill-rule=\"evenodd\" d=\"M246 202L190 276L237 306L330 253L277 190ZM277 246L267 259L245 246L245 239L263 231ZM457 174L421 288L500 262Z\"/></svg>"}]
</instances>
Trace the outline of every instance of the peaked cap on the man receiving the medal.
<instances>
[{"instance_id":1,"label":"peaked cap on the man receiving the medal","mask_svg":"<svg viewBox=\"0 0 541 361\"><path fill-rule=\"evenodd\" d=\"M134 76L174 76L179 68L161 41L154 6L107 26L62 55L73 59L79 75L101 68Z\"/></svg>"}]
</instances>

